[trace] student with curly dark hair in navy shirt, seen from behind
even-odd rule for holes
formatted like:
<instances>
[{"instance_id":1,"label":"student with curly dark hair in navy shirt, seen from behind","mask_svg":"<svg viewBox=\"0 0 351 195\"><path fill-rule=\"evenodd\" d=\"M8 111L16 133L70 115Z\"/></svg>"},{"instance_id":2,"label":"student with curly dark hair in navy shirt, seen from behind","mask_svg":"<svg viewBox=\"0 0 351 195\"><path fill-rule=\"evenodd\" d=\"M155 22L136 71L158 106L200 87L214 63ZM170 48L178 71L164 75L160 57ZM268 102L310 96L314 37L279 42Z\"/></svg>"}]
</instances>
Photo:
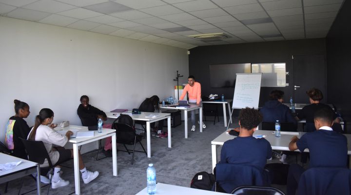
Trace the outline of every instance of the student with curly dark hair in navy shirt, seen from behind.
<instances>
[{"instance_id":1,"label":"student with curly dark hair in navy shirt, seen from behind","mask_svg":"<svg viewBox=\"0 0 351 195\"><path fill-rule=\"evenodd\" d=\"M263 170L272 157L272 147L265 138L253 137L262 116L254 108L246 107L241 109L238 119L239 136L224 142L219 163L251 165Z\"/></svg>"}]
</instances>

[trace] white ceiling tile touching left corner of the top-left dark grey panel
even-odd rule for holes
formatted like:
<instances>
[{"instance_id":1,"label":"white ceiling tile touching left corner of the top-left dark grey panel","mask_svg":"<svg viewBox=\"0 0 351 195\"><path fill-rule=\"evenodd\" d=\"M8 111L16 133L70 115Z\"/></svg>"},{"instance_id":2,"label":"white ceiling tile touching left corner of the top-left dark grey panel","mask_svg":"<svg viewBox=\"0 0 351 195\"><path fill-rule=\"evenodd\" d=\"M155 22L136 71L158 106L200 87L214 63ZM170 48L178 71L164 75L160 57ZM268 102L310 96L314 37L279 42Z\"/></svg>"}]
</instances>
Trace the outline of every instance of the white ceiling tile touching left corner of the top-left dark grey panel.
<instances>
[{"instance_id":1,"label":"white ceiling tile touching left corner of the top-left dark grey panel","mask_svg":"<svg viewBox=\"0 0 351 195\"><path fill-rule=\"evenodd\" d=\"M34 3L23 6L23 8L48 12L48 13L57 13L65 10L70 10L77 8L73 5L68 5L66 3L57 2L54 0L39 0Z\"/></svg>"}]
</instances>

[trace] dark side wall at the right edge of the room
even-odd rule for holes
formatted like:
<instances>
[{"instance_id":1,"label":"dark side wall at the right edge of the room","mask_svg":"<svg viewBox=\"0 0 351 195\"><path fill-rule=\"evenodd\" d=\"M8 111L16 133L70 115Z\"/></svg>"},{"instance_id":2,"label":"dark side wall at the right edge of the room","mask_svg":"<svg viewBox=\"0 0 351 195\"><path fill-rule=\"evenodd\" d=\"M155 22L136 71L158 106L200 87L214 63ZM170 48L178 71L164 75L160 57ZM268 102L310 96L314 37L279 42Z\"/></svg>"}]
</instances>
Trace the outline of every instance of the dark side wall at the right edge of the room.
<instances>
[{"instance_id":1,"label":"dark side wall at the right edge of the room","mask_svg":"<svg viewBox=\"0 0 351 195\"><path fill-rule=\"evenodd\" d=\"M326 39L328 99L344 120L351 121L351 2L344 1Z\"/></svg>"}]
</instances>

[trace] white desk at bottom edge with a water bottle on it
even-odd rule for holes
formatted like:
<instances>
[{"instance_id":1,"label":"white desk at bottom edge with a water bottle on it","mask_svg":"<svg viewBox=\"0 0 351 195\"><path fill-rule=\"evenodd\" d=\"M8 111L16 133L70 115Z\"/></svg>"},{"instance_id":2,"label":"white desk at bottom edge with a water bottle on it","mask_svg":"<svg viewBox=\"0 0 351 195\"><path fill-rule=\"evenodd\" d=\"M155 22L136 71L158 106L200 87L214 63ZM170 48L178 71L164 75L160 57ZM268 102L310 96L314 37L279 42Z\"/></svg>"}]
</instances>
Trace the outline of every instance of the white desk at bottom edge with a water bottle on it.
<instances>
[{"instance_id":1,"label":"white desk at bottom edge with a water bottle on it","mask_svg":"<svg viewBox=\"0 0 351 195\"><path fill-rule=\"evenodd\" d=\"M147 187L136 195L148 195ZM208 190L199 190L182 186L175 186L164 183L156 184L156 195L228 195L221 192L213 192Z\"/></svg>"}]
</instances>

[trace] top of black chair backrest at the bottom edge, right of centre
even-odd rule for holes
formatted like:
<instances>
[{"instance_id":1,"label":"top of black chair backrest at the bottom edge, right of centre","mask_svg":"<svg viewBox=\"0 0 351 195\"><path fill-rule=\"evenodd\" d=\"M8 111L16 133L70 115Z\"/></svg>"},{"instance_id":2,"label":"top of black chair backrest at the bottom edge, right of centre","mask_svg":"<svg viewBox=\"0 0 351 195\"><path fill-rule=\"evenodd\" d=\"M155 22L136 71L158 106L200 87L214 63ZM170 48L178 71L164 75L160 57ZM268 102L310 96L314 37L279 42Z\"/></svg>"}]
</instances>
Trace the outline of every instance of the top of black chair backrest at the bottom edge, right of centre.
<instances>
[{"instance_id":1,"label":"top of black chair backrest at the bottom edge, right of centre","mask_svg":"<svg viewBox=\"0 0 351 195\"><path fill-rule=\"evenodd\" d=\"M285 195L281 190L264 186L240 186L233 190L233 195Z\"/></svg>"}]
</instances>

